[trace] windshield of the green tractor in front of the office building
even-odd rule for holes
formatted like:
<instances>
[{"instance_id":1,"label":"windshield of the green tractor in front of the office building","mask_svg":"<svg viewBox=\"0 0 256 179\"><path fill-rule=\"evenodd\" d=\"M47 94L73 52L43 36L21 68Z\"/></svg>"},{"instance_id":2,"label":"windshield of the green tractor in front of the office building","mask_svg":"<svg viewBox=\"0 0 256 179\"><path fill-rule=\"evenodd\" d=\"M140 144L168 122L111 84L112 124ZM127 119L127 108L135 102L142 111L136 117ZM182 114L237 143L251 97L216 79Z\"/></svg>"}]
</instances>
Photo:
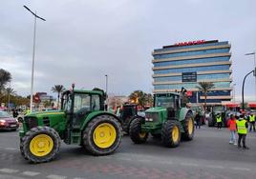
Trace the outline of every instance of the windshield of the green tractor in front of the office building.
<instances>
[{"instance_id":1,"label":"windshield of the green tractor in front of the office building","mask_svg":"<svg viewBox=\"0 0 256 179\"><path fill-rule=\"evenodd\" d=\"M174 95L156 94L155 107L174 108Z\"/></svg>"}]
</instances>

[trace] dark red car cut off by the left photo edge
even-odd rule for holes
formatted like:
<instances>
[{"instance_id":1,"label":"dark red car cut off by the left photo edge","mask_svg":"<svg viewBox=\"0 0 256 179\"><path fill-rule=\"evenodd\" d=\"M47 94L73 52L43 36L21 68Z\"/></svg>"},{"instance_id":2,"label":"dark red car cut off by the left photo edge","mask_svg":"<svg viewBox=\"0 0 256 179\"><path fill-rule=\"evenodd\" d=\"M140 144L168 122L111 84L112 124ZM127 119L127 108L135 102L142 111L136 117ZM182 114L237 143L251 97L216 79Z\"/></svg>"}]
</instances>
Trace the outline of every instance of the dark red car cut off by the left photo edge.
<instances>
[{"instance_id":1,"label":"dark red car cut off by the left photo edge","mask_svg":"<svg viewBox=\"0 0 256 179\"><path fill-rule=\"evenodd\" d=\"M16 130L19 128L18 121L11 117L7 111L0 111L0 129Z\"/></svg>"}]
</instances>

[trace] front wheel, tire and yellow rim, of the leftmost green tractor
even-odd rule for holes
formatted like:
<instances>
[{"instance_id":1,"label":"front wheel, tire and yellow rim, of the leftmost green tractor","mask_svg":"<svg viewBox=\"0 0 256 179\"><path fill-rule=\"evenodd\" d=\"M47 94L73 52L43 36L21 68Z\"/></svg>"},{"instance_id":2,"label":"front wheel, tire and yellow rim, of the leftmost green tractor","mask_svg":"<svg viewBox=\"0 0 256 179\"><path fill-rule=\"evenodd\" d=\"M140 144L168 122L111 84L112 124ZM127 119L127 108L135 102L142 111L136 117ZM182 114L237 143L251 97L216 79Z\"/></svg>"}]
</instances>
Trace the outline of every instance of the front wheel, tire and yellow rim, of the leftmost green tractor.
<instances>
[{"instance_id":1,"label":"front wheel, tire and yellow rim, of the leftmost green tractor","mask_svg":"<svg viewBox=\"0 0 256 179\"><path fill-rule=\"evenodd\" d=\"M33 128L20 140L22 156L34 164L53 160L59 149L60 137L49 127Z\"/></svg>"}]
</instances>

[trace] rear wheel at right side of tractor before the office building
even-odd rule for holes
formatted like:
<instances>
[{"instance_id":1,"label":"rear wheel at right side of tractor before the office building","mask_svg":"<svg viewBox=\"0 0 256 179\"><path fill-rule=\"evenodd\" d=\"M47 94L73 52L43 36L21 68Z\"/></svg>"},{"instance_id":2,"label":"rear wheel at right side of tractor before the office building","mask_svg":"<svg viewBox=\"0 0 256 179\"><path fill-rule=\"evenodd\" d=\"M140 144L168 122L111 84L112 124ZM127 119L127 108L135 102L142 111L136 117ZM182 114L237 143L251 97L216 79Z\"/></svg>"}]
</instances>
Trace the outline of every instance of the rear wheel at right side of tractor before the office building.
<instances>
[{"instance_id":1,"label":"rear wheel at right side of tractor before the office building","mask_svg":"<svg viewBox=\"0 0 256 179\"><path fill-rule=\"evenodd\" d=\"M184 132L181 134L182 139L190 141L194 137L194 119L192 117L192 113L187 112L184 122L182 124Z\"/></svg>"}]
</instances>

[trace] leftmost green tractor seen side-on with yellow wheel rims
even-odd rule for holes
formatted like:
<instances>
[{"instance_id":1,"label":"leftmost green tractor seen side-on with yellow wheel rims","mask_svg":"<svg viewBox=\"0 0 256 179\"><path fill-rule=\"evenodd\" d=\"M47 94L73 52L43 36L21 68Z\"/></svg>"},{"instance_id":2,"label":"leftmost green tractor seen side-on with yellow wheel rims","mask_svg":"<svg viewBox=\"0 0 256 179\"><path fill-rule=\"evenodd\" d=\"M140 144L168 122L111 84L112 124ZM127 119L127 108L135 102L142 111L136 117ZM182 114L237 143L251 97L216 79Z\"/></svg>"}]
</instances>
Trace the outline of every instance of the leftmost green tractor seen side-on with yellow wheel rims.
<instances>
[{"instance_id":1,"label":"leftmost green tractor seen side-on with yellow wheel rims","mask_svg":"<svg viewBox=\"0 0 256 179\"><path fill-rule=\"evenodd\" d=\"M61 109L32 112L23 120L20 151L32 163L49 162L57 155L61 140L79 145L93 155L113 153L122 133L116 115L104 111L104 91L66 90Z\"/></svg>"}]
</instances>

